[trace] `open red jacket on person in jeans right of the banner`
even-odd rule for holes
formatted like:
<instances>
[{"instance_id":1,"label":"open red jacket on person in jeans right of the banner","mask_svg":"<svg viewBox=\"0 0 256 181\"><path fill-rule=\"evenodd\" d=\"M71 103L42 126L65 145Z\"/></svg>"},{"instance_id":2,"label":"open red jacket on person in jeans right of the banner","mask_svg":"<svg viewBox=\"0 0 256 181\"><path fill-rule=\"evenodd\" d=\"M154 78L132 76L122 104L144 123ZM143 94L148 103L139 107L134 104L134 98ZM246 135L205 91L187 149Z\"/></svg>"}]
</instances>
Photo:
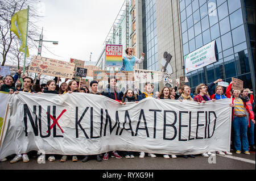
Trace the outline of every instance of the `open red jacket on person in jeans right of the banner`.
<instances>
[{"instance_id":1,"label":"open red jacket on person in jeans right of the banner","mask_svg":"<svg viewBox=\"0 0 256 181\"><path fill-rule=\"evenodd\" d=\"M230 83L228 87L226 87L226 97L230 98L231 97L231 92L230 90L232 89L232 84ZM232 97L232 104L234 105L234 97ZM243 106L245 106L245 109L248 113L247 119L248 119L248 127L250 127L250 120L254 119L254 113L253 113L253 107L251 104L253 103L253 94L250 95L250 100L248 102L243 102ZM233 109L233 115L234 115L234 109ZM232 120L233 120L232 116Z\"/></svg>"}]
</instances>

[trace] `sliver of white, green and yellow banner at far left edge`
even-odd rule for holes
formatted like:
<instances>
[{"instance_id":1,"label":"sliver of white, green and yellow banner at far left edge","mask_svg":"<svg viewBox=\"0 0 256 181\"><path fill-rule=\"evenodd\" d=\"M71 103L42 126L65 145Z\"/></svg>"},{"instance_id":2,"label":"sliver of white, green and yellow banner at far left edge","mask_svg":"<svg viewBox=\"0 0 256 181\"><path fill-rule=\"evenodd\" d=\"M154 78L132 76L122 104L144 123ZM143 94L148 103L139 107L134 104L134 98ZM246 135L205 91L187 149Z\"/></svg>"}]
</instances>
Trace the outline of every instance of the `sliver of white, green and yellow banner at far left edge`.
<instances>
[{"instance_id":1,"label":"sliver of white, green and yellow banner at far left edge","mask_svg":"<svg viewBox=\"0 0 256 181\"><path fill-rule=\"evenodd\" d=\"M9 92L0 91L0 140L2 138L3 123L5 121L6 109L8 104Z\"/></svg>"}]
</instances>

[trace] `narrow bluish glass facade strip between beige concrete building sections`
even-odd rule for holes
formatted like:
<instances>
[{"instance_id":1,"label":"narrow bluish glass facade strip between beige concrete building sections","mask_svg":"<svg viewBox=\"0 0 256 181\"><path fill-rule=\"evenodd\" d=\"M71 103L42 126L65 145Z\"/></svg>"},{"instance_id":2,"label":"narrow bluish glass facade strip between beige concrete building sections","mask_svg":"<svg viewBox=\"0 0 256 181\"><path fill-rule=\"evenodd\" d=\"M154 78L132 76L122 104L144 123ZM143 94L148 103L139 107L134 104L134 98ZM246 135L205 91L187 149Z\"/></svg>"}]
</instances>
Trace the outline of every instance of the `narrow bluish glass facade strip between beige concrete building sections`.
<instances>
[{"instance_id":1,"label":"narrow bluish glass facade strip between beige concrete building sections","mask_svg":"<svg viewBox=\"0 0 256 181\"><path fill-rule=\"evenodd\" d=\"M156 37L156 0L142 0L143 69L158 70L158 40Z\"/></svg>"}]
</instances>

